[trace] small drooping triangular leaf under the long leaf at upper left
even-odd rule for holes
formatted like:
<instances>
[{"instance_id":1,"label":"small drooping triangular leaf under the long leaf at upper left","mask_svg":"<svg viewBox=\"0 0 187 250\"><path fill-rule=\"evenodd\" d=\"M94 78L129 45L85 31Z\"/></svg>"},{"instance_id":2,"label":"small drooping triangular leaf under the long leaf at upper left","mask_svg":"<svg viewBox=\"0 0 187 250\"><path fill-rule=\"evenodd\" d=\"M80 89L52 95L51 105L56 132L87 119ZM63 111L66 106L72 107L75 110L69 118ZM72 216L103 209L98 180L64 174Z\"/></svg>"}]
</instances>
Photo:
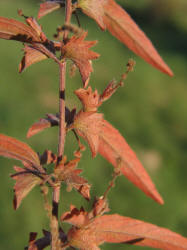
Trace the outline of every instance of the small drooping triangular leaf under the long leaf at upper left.
<instances>
[{"instance_id":1,"label":"small drooping triangular leaf under the long leaf at upper left","mask_svg":"<svg viewBox=\"0 0 187 250\"><path fill-rule=\"evenodd\" d=\"M30 65L45 60L47 56L41 53L39 50L33 48L32 46L25 45L24 47L24 57L19 65L19 72L21 73L24 69Z\"/></svg>"}]
</instances>

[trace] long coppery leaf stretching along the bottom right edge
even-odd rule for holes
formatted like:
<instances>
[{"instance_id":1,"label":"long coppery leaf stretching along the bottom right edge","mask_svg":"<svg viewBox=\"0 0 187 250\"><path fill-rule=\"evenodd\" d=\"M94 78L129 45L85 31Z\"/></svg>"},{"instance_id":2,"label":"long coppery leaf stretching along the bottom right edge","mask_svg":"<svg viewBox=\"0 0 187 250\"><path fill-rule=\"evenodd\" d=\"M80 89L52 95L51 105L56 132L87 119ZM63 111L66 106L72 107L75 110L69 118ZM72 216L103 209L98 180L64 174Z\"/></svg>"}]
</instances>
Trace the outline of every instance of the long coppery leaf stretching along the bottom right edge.
<instances>
[{"instance_id":1,"label":"long coppery leaf stretching along the bottom right edge","mask_svg":"<svg viewBox=\"0 0 187 250\"><path fill-rule=\"evenodd\" d=\"M99 249L98 246L104 242L149 246L163 250L187 249L187 238L169 229L118 214L96 217L80 229L71 228L68 240L72 247L79 249Z\"/></svg>"}]
</instances>

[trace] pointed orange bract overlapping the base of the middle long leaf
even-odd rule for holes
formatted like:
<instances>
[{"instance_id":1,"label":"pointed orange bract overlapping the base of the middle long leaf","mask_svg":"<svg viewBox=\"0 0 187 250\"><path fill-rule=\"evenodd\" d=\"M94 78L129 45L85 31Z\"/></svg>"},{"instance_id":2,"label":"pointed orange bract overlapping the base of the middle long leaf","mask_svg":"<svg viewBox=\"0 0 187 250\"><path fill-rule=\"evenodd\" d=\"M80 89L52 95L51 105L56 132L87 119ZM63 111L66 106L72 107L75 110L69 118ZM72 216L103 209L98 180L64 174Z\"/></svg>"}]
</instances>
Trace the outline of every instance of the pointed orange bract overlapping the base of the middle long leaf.
<instances>
[{"instance_id":1,"label":"pointed orange bract overlapping the base of the middle long leaf","mask_svg":"<svg viewBox=\"0 0 187 250\"><path fill-rule=\"evenodd\" d=\"M102 133L103 115L95 112L80 111L74 119L74 128L89 144L92 157L95 157L99 147L99 135Z\"/></svg>"}]
</instances>

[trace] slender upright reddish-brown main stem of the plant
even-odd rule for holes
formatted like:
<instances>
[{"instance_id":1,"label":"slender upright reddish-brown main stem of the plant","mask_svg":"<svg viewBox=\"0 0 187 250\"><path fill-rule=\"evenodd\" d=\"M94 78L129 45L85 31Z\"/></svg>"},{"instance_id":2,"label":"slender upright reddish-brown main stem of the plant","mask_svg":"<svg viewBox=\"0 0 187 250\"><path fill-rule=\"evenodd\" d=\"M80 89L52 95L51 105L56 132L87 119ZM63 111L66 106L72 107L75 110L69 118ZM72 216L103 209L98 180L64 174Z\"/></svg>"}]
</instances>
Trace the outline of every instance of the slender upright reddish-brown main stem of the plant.
<instances>
[{"instance_id":1,"label":"slender upright reddish-brown main stem of the plant","mask_svg":"<svg viewBox=\"0 0 187 250\"><path fill-rule=\"evenodd\" d=\"M66 15L65 23L70 23L71 20L71 10L72 2L71 0L66 0ZM68 31L65 31L63 42L66 42L68 37ZM64 154L64 144L66 136L65 128L65 83L66 83L66 62L59 63L59 136L58 136L58 162L62 159ZM60 200L60 184L53 189L53 202L52 202L52 250L60 250L61 244L59 240L59 225L58 225L58 207Z\"/></svg>"}]
</instances>

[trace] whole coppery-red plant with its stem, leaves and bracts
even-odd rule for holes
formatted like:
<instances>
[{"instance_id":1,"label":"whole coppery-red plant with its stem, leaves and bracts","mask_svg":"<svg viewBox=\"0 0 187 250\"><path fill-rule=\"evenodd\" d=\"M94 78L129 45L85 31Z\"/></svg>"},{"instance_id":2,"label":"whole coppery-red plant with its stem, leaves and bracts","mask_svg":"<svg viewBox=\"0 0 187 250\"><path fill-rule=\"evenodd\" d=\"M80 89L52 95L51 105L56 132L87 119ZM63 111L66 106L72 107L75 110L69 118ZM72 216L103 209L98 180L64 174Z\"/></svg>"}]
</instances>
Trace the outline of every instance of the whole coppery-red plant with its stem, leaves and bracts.
<instances>
[{"instance_id":1,"label":"whole coppery-red plant with its stem, leaves and bracts","mask_svg":"<svg viewBox=\"0 0 187 250\"><path fill-rule=\"evenodd\" d=\"M64 7L64 4L58 2L41 4L39 17L57 9L57 7ZM129 61L127 64L127 72L122 75L120 82L118 84L114 81L110 82L102 94L98 94L97 90L92 91L90 86L87 88L92 72L90 60L98 58L99 55L88 50L95 44L95 41L84 40L86 32L72 26L71 14L76 12L77 8L81 8L85 14L95 19L102 29L107 28L112 35L148 63L164 73L169 75L173 73L158 55L150 40L114 1L80 0L73 5L71 5L71 1L66 1L65 7L66 22L61 28L58 28L57 42L49 40L36 20L25 17L21 11L19 14L25 18L26 24L3 17L0 19L1 38L29 44L24 46L25 54L19 67L20 72L31 64L47 58L53 59L60 69L59 114L48 114L47 119L41 119L35 123L28 132L30 137L44 128L59 126L57 155L48 150L42 155L37 155L23 142L5 135L0 137L0 154L20 160L23 164L23 168L15 167L16 173L12 175L16 180L14 207L17 209L27 193L39 184L44 196L45 209L50 218L51 231L44 231L44 237L40 240L36 240L36 234L32 233L29 249L43 249L50 244L52 249L65 249L69 246L80 249L99 249L98 246L104 242L148 245L162 249L185 249L186 239L167 229L115 214L103 215L109 210L108 191L114 186L115 179L121 174L157 202L162 204L163 200L125 139L118 130L104 120L101 113L97 112L98 107L122 85L127 73L132 71L133 62ZM69 36L70 31L74 33L72 37ZM59 53L60 56L58 56ZM75 91L75 95L82 103L82 109L78 112L75 109L69 110L68 107L65 107L67 59L73 61L73 67L79 68L83 81L84 88ZM71 160L64 155L65 135L70 131L74 132L78 141L78 150L75 151L74 159ZM100 153L114 165L115 170L106 192L102 197L96 198L90 212L85 212L83 208L78 210L72 206L69 213L62 215L62 222L70 222L73 225L66 234L62 228L59 230L58 224L61 183L67 184L68 191L75 188L84 198L90 199L90 185L79 176L81 170L77 169L84 150L78 136L83 137L88 142L93 157ZM49 164L54 165L52 174L49 173ZM47 166L44 168L43 165ZM48 203L47 198L49 187L53 189L52 206Z\"/></svg>"}]
</instances>

